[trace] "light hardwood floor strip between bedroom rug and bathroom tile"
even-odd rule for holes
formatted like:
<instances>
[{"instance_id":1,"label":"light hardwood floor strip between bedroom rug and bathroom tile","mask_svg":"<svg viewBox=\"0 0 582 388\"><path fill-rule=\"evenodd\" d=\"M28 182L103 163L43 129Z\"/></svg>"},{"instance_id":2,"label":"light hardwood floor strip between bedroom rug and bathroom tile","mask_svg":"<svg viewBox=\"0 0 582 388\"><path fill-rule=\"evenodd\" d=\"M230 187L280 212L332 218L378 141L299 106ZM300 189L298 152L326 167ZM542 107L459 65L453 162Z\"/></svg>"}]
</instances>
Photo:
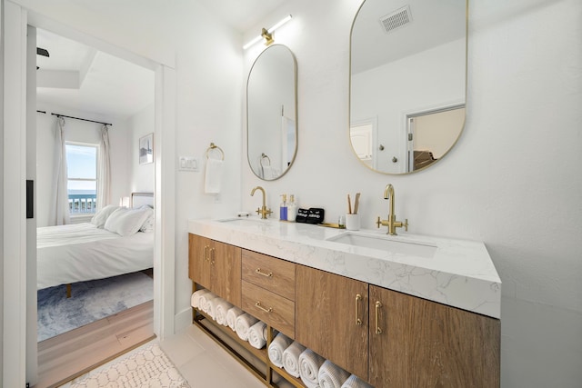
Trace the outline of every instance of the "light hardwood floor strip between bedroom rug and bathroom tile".
<instances>
[{"instance_id":1,"label":"light hardwood floor strip between bedroom rug and bathroom tile","mask_svg":"<svg viewBox=\"0 0 582 388\"><path fill-rule=\"evenodd\" d=\"M38 343L39 380L57 387L155 337L154 303L146 302Z\"/></svg>"}]
</instances>

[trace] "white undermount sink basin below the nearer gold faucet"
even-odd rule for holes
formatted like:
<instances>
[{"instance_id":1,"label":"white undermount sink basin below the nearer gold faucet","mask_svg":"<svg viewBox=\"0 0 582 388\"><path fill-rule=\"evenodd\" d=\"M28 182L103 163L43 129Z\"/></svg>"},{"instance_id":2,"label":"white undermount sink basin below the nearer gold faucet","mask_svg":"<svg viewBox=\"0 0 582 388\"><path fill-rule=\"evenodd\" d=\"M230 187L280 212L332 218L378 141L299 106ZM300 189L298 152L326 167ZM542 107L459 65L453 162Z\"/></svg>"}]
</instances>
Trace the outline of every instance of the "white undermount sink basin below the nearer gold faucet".
<instances>
[{"instance_id":1,"label":"white undermount sink basin below the nearer gold faucet","mask_svg":"<svg viewBox=\"0 0 582 388\"><path fill-rule=\"evenodd\" d=\"M406 254L418 257L432 258L437 251L437 246L422 242L407 242L394 240L386 235L356 234L346 232L326 239L327 241L359 246L363 248L377 249L394 254Z\"/></svg>"}]
</instances>

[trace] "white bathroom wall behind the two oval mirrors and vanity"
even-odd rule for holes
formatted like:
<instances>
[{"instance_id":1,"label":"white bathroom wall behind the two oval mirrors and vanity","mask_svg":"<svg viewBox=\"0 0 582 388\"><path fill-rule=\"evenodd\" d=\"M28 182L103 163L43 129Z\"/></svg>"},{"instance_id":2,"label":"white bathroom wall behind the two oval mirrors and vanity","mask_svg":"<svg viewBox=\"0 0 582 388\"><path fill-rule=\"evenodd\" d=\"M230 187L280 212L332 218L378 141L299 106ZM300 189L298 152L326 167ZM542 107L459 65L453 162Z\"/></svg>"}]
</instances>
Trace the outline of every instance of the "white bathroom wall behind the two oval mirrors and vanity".
<instances>
[{"instance_id":1,"label":"white bathroom wall behind the two oval mirrors and vanity","mask_svg":"<svg viewBox=\"0 0 582 388\"><path fill-rule=\"evenodd\" d=\"M267 18L294 19L276 32L298 63L299 148L280 180L243 168L242 200L256 184L320 205L328 222L362 193L362 223L386 215L386 184L409 233L485 242L503 281L504 387L579 387L582 381L582 3L472 1L467 126L457 146L416 174L376 174L350 150L349 32L361 2L294 1ZM316 37L316 38L315 38ZM245 53L247 73L261 45ZM325 140L323 140L325 139ZM242 164L246 160L241 159Z\"/></svg>"}]
</instances>

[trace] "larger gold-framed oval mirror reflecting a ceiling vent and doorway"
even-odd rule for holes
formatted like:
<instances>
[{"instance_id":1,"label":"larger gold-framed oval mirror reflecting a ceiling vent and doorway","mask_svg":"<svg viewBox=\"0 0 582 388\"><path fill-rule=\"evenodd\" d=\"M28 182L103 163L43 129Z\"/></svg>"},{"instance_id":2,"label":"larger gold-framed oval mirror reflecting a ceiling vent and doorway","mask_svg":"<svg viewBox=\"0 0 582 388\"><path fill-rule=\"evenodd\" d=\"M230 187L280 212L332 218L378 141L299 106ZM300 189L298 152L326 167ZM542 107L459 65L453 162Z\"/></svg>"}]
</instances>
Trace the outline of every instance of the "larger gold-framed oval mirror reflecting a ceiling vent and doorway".
<instances>
[{"instance_id":1,"label":"larger gold-framed oval mirror reflecting a ceiling vent and doorway","mask_svg":"<svg viewBox=\"0 0 582 388\"><path fill-rule=\"evenodd\" d=\"M367 167L408 174L465 126L467 0L366 0L354 19L350 141Z\"/></svg>"}]
</instances>

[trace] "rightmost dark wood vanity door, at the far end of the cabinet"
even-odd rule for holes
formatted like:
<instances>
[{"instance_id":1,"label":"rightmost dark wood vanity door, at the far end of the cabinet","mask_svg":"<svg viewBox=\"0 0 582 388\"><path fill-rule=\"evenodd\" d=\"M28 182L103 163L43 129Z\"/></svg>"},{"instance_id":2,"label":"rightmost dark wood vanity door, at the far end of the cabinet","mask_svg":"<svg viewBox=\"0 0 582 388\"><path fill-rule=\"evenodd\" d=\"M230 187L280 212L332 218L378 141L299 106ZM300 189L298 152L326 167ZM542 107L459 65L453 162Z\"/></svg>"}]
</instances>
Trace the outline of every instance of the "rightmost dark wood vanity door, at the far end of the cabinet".
<instances>
[{"instance_id":1,"label":"rightmost dark wood vanity door, at the far end of the cabinet","mask_svg":"<svg viewBox=\"0 0 582 388\"><path fill-rule=\"evenodd\" d=\"M497 319L370 285L369 382L498 387L499 331Z\"/></svg>"}]
</instances>

